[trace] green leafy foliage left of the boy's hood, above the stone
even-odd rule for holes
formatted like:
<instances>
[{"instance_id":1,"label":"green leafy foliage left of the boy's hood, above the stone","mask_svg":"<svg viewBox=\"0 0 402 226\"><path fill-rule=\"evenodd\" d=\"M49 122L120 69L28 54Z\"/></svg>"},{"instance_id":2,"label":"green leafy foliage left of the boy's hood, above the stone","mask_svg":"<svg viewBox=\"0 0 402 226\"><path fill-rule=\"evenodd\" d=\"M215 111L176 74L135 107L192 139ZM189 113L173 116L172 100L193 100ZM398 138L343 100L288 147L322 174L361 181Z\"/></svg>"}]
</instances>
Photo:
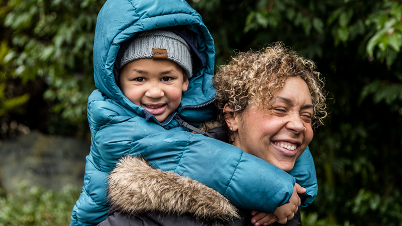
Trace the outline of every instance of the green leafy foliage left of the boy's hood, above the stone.
<instances>
[{"instance_id":1,"label":"green leafy foliage left of the boy's hood, above the stone","mask_svg":"<svg viewBox=\"0 0 402 226\"><path fill-rule=\"evenodd\" d=\"M8 1L4 26L13 49L4 57L11 76L43 78L52 109L74 123L86 120L93 83L92 46L97 13L104 1Z\"/></svg>"}]
</instances>

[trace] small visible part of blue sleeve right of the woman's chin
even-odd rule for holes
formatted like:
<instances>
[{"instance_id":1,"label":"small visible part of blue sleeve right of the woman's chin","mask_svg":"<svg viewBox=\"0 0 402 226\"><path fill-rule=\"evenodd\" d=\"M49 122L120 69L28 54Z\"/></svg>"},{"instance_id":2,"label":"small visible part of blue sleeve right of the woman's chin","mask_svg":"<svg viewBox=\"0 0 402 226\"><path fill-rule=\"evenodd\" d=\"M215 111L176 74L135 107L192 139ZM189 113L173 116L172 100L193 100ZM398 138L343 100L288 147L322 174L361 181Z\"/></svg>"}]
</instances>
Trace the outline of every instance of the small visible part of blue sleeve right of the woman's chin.
<instances>
[{"instance_id":1,"label":"small visible part of blue sleeve right of the woman's chin","mask_svg":"<svg viewBox=\"0 0 402 226\"><path fill-rule=\"evenodd\" d=\"M308 197L306 200L302 201L302 205L300 206L306 207L310 205L317 196L318 184L316 167L309 147L307 147L304 153L296 160L289 174L296 179L296 183L306 188Z\"/></svg>"}]
</instances>

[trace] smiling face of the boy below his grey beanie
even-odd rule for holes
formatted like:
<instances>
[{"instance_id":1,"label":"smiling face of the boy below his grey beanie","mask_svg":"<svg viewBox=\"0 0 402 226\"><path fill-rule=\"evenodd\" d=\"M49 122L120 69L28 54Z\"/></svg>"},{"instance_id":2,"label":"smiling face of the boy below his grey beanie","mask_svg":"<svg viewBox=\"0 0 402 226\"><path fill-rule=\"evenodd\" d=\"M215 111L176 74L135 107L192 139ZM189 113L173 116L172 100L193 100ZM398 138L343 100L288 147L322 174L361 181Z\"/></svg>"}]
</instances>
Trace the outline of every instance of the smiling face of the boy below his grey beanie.
<instances>
[{"instance_id":1,"label":"smiling face of the boy below his grey beanie","mask_svg":"<svg viewBox=\"0 0 402 226\"><path fill-rule=\"evenodd\" d=\"M121 70L120 88L134 104L144 107L162 122L176 110L181 92L187 90L183 69L167 59L140 58Z\"/></svg>"}]
</instances>

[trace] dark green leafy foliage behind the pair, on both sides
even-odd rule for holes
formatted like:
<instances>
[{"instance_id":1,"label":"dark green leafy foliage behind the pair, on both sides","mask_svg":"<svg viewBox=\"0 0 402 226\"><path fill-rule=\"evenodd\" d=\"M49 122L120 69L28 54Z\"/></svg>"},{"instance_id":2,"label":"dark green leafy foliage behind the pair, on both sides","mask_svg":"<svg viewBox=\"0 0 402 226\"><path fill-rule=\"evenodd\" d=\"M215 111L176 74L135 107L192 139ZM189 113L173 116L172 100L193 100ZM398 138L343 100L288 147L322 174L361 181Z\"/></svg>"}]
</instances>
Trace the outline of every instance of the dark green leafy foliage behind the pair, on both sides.
<instances>
[{"instance_id":1,"label":"dark green leafy foliage behind the pair, on both sides","mask_svg":"<svg viewBox=\"0 0 402 226\"><path fill-rule=\"evenodd\" d=\"M34 98L25 92L8 95L10 79L43 80L41 95L51 103L49 119L57 122L48 131L66 125L58 117L82 127L86 98L94 89L93 34L103 3L0 0L2 114L21 112L24 101ZM189 3L214 37L216 65L235 52L283 41L316 61L326 78L329 118L310 145L319 195L304 209L304 225L400 225L402 2Z\"/></svg>"}]
</instances>

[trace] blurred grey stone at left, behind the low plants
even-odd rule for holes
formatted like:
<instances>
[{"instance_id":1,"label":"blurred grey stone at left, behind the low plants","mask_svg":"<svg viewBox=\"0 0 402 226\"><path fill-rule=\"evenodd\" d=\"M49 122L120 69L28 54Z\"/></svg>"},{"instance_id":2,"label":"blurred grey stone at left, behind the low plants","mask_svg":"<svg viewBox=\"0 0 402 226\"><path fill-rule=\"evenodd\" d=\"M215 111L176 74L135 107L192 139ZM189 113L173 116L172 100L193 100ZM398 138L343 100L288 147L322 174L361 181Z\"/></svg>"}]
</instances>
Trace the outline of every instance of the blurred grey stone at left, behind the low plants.
<instances>
[{"instance_id":1,"label":"blurred grey stone at left, behind the low plants","mask_svg":"<svg viewBox=\"0 0 402 226\"><path fill-rule=\"evenodd\" d=\"M60 189L83 185L85 156L90 143L33 131L0 143L0 186L12 191L25 180L29 185Z\"/></svg>"}]
</instances>

